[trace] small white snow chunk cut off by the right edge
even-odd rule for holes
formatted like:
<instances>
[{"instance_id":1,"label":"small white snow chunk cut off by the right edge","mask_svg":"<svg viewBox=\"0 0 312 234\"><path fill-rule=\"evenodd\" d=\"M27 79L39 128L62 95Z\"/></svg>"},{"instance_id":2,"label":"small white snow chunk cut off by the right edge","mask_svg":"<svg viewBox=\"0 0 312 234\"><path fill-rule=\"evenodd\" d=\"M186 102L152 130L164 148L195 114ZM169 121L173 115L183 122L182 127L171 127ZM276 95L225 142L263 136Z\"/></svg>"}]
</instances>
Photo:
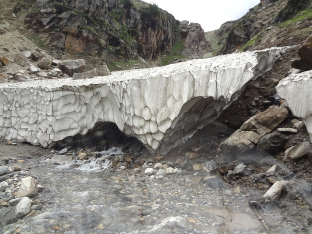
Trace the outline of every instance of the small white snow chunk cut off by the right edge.
<instances>
[{"instance_id":1,"label":"small white snow chunk cut off by the right edge","mask_svg":"<svg viewBox=\"0 0 312 234\"><path fill-rule=\"evenodd\" d=\"M304 120L312 142L312 71L282 79L276 90L287 101L292 114Z\"/></svg>"}]
</instances>

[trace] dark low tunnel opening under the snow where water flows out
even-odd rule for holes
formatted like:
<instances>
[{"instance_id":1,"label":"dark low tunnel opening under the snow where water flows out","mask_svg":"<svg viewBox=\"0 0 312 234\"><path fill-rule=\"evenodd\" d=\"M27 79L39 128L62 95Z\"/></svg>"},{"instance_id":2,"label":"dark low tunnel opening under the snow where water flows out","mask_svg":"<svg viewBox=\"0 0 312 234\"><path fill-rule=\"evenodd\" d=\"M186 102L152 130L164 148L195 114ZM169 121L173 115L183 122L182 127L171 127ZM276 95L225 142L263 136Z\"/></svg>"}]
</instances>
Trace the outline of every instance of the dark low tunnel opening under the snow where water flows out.
<instances>
[{"instance_id":1,"label":"dark low tunnel opening under the snow where water flows out","mask_svg":"<svg viewBox=\"0 0 312 234\"><path fill-rule=\"evenodd\" d=\"M125 135L112 122L97 122L86 134L68 136L55 142L52 148L61 149L67 146L74 148L94 147L96 151L119 147L122 148L123 152L138 152L145 148L139 140Z\"/></svg>"}]
</instances>

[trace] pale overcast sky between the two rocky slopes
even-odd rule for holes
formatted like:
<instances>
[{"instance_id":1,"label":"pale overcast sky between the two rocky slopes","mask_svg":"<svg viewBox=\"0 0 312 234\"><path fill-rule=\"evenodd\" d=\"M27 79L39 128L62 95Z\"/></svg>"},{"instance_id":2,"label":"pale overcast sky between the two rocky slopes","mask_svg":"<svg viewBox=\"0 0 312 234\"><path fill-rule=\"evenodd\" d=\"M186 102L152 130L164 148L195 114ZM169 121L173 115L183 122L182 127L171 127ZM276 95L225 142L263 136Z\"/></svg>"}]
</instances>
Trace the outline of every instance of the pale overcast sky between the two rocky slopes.
<instances>
[{"instance_id":1,"label":"pale overcast sky between the two rocky slopes","mask_svg":"<svg viewBox=\"0 0 312 234\"><path fill-rule=\"evenodd\" d=\"M220 28L229 20L245 15L260 0L144 0L155 3L171 13L177 20L201 24L206 31Z\"/></svg>"}]
</instances>

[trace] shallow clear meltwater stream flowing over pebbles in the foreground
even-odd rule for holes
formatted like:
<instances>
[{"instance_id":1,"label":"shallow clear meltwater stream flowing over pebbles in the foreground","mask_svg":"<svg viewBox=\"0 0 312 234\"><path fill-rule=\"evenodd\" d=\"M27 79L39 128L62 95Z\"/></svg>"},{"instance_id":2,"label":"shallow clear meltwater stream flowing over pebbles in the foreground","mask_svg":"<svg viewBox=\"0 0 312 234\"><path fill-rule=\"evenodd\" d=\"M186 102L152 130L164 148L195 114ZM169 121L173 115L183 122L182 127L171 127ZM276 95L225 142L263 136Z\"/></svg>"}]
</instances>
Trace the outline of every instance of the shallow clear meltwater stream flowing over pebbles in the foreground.
<instances>
[{"instance_id":1,"label":"shallow clear meltwater stream flowing over pebbles in the foreground","mask_svg":"<svg viewBox=\"0 0 312 234\"><path fill-rule=\"evenodd\" d=\"M207 175L194 171L151 177L145 169L154 164L112 167L112 158L126 156L113 148L63 165L51 155L26 159L23 166L43 186L33 202L43 208L3 233L12 228L21 234L293 233L278 211L252 210L250 194L218 177L214 189L202 182Z\"/></svg>"}]
</instances>

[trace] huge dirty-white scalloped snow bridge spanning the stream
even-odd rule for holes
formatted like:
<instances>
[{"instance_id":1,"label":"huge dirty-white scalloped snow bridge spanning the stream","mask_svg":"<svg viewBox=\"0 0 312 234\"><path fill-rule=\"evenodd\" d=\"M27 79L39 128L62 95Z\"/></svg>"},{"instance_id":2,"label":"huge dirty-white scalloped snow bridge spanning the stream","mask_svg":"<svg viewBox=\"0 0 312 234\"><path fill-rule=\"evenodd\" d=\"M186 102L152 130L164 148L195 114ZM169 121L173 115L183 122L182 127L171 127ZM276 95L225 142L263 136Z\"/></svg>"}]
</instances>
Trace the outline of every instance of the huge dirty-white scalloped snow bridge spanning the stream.
<instances>
[{"instance_id":1,"label":"huge dirty-white scalloped snow bridge spanning the stream","mask_svg":"<svg viewBox=\"0 0 312 234\"><path fill-rule=\"evenodd\" d=\"M212 122L285 48L234 53L86 80L0 84L0 140L51 147L113 122L166 154Z\"/></svg>"}]
</instances>

